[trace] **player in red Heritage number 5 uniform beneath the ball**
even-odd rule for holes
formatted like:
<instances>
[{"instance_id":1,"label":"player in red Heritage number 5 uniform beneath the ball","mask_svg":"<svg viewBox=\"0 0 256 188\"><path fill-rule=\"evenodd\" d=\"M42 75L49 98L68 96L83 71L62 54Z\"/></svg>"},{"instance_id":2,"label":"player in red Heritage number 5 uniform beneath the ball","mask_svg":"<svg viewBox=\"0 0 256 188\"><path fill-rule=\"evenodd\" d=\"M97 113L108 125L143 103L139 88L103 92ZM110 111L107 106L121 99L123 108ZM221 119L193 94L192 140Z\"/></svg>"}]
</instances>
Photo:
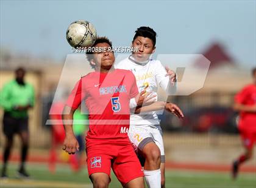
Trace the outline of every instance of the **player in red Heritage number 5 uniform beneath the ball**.
<instances>
[{"instance_id":1,"label":"player in red Heritage number 5 uniform beneath the ball","mask_svg":"<svg viewBox=\"0 0 256 188\"><path fill-rule=\"evenodd\" d=\"M115 56L104 49L112 47L107 38L98 38L93 47L101 48L88 56L95 72L77 82L63 110L63 150L69 154L79 150L72 121L66 121L73 119L74 110L85 100L89 112L87 164L93 187L108 187L110 167L124 187L144 187L143 171L127 136L130 98L140 96L135 77L128 70L112 68Z\"/></svg>"}]
</instances>

